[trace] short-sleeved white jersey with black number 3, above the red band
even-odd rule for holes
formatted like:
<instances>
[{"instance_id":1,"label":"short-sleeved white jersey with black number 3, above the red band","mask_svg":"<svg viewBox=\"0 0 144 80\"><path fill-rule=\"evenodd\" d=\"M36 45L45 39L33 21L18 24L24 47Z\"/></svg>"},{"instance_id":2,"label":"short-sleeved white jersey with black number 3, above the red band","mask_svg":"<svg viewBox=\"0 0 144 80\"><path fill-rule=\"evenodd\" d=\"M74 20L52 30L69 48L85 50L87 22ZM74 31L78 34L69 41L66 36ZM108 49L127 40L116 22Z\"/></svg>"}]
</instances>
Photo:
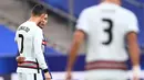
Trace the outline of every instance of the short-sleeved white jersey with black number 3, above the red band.
<instances>
[{"instance_id":1,"label":"short-sleeved white jersey with black number 3, above the red band","mask_svg":"<svg viewBox=\"0 0 144 80\"><path fill-rule=\"evenodd\" d=\"M88 35L86 62L127 60L125 35L138 32L136 15L117 4L101 3L84 9L76 28Z\"/></svg>"}]
</instances>

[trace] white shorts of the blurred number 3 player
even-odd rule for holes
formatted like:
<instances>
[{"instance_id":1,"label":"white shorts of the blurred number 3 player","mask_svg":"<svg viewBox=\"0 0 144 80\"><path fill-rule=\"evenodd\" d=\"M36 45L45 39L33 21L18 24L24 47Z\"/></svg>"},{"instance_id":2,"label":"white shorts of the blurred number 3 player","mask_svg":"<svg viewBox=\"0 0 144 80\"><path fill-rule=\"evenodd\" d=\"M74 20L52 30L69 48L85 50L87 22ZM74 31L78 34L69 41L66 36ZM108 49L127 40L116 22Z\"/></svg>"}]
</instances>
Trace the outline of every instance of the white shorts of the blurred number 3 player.
<instances>
[{"instance_id":1,"label":"white shorts of the blurred number 3 player","mask_svg":"<svg viewBox=\"0 0 144 80\"><path fill-rule=\"evenodd\" d=\"M89 70L85 80L127 80L127 71L123 70Z\"/></svg>"}]
</instances>

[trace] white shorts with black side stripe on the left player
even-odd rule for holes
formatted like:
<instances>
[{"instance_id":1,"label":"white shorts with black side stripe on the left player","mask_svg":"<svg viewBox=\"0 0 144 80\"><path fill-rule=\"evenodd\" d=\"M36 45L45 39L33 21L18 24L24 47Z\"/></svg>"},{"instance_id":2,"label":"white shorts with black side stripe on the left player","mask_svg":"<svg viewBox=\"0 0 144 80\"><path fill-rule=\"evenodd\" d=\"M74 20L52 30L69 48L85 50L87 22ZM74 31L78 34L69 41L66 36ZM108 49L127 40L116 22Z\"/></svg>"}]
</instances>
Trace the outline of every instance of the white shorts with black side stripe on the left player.
<instances>
[{"instance_id":1,"label":"white shorts with black side stripe on the left player","mask_svg":"<svg viewBox=\"0 0 144 80\"><path fill-rule=\"evenodd\" d=\"M43 80L42 73L23 73L18 72L19 80Z\"/></svg>"}]
</instances>

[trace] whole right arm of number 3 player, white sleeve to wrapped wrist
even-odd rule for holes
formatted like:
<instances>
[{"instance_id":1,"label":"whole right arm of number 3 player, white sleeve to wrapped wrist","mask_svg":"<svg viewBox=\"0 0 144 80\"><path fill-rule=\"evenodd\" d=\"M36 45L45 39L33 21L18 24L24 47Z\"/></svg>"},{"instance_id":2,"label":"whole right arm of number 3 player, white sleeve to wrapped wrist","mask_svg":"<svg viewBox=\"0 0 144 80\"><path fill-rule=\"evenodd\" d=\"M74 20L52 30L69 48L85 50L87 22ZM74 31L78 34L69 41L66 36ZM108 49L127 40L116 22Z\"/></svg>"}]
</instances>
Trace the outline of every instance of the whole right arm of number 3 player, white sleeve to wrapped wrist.
<instances>
[{"instance_id":1,"label":"whole right arm of number 3 player, white sleeve to wrapped wrist","mask_svg":"<svg viewBox=\"0 0 144 80\"><path fill-rule=\"evenodd\" d=\"M126 39L127 39L127 48L130 58L133 66L133 76L140 77L140 47L137 43L137 34L138 34L138 22L135 14L130 13L127 15L127 30L126 30Z\"/></svg>"}]
</instances>

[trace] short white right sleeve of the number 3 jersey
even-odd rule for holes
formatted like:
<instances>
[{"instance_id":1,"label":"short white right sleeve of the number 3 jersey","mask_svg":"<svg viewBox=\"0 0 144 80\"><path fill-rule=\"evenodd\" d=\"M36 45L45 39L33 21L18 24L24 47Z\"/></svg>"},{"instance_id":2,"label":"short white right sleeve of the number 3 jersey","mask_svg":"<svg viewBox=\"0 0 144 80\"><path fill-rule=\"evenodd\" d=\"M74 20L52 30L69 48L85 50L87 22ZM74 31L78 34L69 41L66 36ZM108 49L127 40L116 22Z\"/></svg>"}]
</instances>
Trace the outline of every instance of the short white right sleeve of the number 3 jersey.
<instances>
[{"instance_id":1,"label":"short white right sleeve of the number 3 jersey","mask_svg":"<svg viewBox=\"0 0 144 80\"><path fill-rule=\"evenodd\" d=\"M130 32L135 32L135 33L138 33L138 21L137 21L137 18L134 13L130 13L127 15L127 20L126 20L126 25L127 25L127 30L126 30L126 33L130 33Z\"/></svg>"}]
</instances>

